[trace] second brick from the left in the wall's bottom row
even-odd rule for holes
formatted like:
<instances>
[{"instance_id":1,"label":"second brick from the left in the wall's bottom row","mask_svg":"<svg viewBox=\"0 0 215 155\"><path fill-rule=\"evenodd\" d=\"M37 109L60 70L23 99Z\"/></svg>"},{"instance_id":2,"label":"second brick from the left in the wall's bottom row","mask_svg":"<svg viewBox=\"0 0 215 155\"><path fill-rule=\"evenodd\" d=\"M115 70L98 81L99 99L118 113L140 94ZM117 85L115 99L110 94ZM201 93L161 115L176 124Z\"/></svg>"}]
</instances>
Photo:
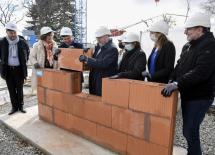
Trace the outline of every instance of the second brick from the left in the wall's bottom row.
<instances>
[{"instance_id":1,"label":"second brick from the left in the wall's bottom row","mask_svg":"<svg viewBox=\"0 0 215 155\"><path fill-rule=\"evenodd\" d=\"M70 115L63 111L54 109L54 123L64 129L70 129Z\"/></svg>"}]
</instances>

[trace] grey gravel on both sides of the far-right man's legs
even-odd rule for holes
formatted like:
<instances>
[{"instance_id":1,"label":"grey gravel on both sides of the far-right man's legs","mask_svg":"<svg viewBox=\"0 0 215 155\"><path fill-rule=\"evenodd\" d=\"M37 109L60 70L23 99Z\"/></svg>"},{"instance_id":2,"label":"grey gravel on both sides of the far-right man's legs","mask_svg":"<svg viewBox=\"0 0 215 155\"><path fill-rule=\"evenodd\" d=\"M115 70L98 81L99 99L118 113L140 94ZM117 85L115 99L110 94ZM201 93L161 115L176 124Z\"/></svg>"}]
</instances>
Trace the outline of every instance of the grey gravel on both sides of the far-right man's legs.
<instances>
[{"instance_id":1,"label":"grey gravel on both sides of the far-right man's legs","mask_svg":"<svg viewBox=\"0 0 215 155\"><path fill-rule=\"evenodd\" d=\"M215 113L207 113L200 128L203 155L215 155ZM186 148L187 143L182 135L182 114L176 117L175 145Z\"/></svg>"}]
</instances>

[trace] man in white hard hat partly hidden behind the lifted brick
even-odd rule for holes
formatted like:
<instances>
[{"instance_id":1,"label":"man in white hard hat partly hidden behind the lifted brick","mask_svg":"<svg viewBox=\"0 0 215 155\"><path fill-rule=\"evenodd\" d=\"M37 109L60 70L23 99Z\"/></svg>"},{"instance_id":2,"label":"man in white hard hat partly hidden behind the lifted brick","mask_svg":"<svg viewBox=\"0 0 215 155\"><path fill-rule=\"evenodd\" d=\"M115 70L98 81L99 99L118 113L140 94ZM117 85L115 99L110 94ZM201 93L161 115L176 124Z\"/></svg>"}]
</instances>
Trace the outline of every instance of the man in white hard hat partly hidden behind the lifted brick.
<instances>
[{"instance_id":1,"label":"man in white hard hat partly hidden behind the lifted brick","mask_svg":"<svg viewBox=\"0 0 215 155\"><path fill-rule=\"evenodd\" d=\"M60 36L63 38L63 43L59 48L83 48L83 45L76 43L73 38L72 30L68 27L63 27L60 30Z\"/></svg>"}]
</instances>

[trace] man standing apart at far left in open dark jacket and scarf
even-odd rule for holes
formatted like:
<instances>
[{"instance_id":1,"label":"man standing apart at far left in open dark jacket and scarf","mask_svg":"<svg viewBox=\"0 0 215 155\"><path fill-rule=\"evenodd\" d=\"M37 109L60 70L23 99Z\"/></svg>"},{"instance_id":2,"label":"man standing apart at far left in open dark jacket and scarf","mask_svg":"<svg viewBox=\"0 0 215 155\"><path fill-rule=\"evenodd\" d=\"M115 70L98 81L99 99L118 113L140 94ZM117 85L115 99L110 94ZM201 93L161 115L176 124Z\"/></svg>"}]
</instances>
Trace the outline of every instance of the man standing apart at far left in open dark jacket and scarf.
<instances>
[{"instance_id":1,"label":"man standing apart at far left in open dark jacket and scarf","mask_svg":"<svg viewBox=\"0 0 215 155\"><path fill-rule=\"evenodd\" d=\"M12 109L9 115L23 109L23 84L27 77L27 61L29 47L25 40L18 37L17 25L9 22L5 26L6 37L0 40L0 72L6 80L10 94Z\"/></svg>"}]
</instances>

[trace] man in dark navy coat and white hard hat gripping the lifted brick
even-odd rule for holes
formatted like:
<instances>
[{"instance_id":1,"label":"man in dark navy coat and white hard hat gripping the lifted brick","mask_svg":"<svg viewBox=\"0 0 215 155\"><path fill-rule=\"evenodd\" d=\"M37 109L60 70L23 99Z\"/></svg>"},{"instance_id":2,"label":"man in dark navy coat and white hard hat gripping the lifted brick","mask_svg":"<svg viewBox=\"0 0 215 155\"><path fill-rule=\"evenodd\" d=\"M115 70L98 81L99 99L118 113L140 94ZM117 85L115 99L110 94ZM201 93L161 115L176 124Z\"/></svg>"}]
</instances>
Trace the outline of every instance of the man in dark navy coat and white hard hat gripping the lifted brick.
<instances>
[{"instance_id":1,"label":"man in dark navy coat and white hard hat gripping the lifted brick","mask_svg":"<svg viewBox=\"0 0 215 155\"><path fill-rule=\"evenodd\" d=\"M91 67L89 75L90 94L101 96L102 78L113 76L117 73L118 50L110 39L111 32L106 27L97 29L95 36L98 44L92 58L80 56L80 61Z\"/></svg>"}]
</instances>

